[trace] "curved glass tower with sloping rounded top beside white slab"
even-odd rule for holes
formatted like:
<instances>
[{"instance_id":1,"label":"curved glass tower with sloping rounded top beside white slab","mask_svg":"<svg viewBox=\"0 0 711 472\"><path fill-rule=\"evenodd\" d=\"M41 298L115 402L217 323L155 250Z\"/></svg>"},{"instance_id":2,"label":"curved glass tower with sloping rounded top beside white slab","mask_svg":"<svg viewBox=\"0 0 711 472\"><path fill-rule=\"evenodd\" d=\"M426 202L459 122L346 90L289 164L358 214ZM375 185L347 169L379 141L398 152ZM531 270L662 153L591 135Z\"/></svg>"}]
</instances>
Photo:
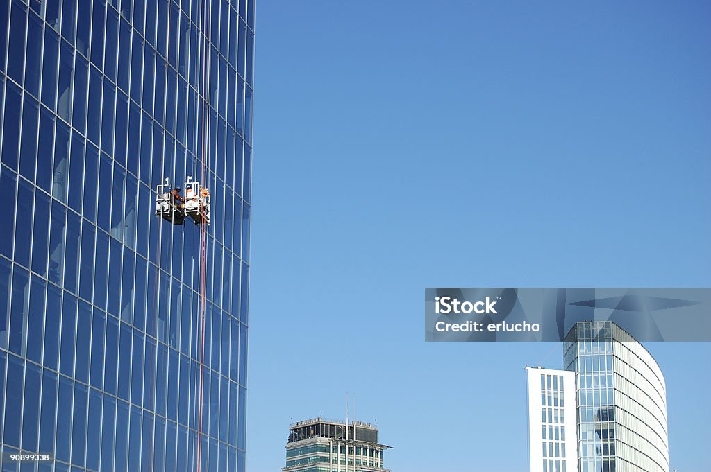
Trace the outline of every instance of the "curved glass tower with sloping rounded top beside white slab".
<instances>
[{"instance_id":1,"label":"curved glass tower with sloping rounded top beside white slab","mask_svg":"<svg viewBox=\"0 0 711 472\"><path fill-rule=\"evenodd\" d=\"M579 322L564 365L577 390L580 472L668 472L666 386L650 353L612 322Z\"/></svg>"}]
</instances>

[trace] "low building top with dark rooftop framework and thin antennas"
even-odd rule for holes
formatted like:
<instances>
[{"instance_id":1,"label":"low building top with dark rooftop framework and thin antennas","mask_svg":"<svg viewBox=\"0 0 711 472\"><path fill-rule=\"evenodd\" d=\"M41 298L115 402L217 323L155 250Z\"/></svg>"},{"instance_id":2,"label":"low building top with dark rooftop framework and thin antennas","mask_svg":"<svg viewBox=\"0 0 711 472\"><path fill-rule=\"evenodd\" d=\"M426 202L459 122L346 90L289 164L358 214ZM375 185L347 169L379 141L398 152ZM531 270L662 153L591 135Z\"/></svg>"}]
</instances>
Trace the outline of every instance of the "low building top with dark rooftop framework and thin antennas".
<instances>
[{"instance_id":1,"label":"low building top with dark rooftop framework and thin antennas","mask_svg":"<svg viewBox=\"0 0 711 472\"><path fill-rule=\"evenodd\" d=\"M284 472L389 472L378 428L359 421L307 419L289 427Z\"/></svg>"}]
</instances>

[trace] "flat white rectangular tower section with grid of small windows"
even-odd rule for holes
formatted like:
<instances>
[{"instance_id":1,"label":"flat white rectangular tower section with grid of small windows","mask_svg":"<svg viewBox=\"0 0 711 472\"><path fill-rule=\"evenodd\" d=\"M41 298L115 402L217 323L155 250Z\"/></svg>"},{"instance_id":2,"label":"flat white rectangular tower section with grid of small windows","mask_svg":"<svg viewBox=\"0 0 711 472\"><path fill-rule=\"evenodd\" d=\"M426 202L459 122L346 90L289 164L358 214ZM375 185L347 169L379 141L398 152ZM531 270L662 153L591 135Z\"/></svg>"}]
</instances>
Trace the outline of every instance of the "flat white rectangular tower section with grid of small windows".
<instances>
[{"instance_id":1,"label":"flat white rectangular tower section with grid of small windows","mask_svg":"<svg viewBox=\"0 0 711 472\"><path fill-rule=\"evenodd\" d=\"M577 472L575 374L527 367L529 472Z\"/></svg>"}]
</instances>

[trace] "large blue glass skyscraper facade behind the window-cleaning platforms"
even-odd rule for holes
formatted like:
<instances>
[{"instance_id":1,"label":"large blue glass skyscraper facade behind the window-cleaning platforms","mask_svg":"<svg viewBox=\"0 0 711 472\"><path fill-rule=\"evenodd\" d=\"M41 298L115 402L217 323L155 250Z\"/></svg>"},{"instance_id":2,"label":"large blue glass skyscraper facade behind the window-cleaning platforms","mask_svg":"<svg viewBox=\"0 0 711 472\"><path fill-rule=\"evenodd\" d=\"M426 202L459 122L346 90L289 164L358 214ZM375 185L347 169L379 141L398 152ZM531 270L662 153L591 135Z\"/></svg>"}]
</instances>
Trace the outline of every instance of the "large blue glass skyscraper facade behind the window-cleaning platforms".
<instances>
[{"instance_id":1,"label":"large blue glass skyscraper facade behind the window-cleaning platforms","mask_svg":"<svg viewBox=\"0 0 711 472\"><path fill-rule=\"evenodd\" d=\"M244 471L254 0L0 1L3 471ZM154 216L210 189L210 225Z\"/></svg>"}]
</instances>

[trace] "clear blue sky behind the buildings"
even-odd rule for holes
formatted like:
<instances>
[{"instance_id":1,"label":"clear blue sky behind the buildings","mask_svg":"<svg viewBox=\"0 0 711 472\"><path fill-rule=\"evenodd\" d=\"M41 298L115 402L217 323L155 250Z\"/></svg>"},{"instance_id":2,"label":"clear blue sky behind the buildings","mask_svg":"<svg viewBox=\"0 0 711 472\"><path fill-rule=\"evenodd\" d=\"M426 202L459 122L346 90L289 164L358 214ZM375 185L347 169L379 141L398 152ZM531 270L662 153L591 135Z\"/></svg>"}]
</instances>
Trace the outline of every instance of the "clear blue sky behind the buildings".
<instances>
[{"instance_id":1,"label":"clear blue sky behind the buildings","mask_svg":"<svg viewBox=\"0 0 711 472\"><path fill-rule=\"evenodd\" d=\"M375 421L394 472L525 470L526 363L426 344L424 287L711 285L711 4L257 3L247 470ZM711 344L648 346L711 469Z\"/></svg>"}]
</instances>

